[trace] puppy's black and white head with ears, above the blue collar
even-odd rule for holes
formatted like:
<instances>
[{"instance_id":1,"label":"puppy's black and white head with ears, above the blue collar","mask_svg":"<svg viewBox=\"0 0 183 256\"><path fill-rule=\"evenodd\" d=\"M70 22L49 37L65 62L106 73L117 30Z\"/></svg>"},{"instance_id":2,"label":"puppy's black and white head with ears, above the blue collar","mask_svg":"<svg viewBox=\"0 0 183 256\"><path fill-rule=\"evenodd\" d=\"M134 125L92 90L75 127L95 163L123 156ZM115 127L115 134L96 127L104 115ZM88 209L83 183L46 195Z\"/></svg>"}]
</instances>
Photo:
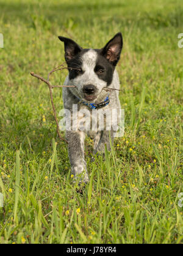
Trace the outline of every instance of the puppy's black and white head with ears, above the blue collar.
<instances>
[{"instance_id":1,"label":"puppy's black and white head with ears, above the blue collar","mask_svg":"<svg viewBox=\"0 0 183 256\"><path fill-rule=\"evenodd\" d=\"M123 47L121 33L116 34L101 49L83 49L71 39L62 36L59 39L65 46L70 85L76 86L70 90L84 101L96 102L102 89L112 83L113 72Z\"/></svg>"}]
</instances>

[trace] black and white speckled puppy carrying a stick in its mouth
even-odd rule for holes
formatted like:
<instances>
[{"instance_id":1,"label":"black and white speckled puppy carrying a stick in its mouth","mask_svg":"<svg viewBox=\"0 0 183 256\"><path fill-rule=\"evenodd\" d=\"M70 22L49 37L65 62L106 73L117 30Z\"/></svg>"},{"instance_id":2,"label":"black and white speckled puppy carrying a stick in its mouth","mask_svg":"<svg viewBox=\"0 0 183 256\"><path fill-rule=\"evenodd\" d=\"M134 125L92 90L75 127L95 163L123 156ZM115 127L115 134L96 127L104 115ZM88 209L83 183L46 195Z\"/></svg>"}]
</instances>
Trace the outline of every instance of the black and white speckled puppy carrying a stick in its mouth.
<instances>
[{"instance_id":1,"label":"black and white speckled puppy carrying a stick in its mouth","mask_svg":"<svg viewBox=\"0 0 183 256\"><path fill-rule=\"evenodd\" d=\"M59 39L64 42L65 61L69 67L64 85L76 86L63 88L65 110L70 111L72 121L73 113L76 111L78 114L77 125L74 129L66 130L71 171L75 179L79 178L79 181L87 183L88 173L84 159L85 135L93 138L95 153L104 153L105 145L110 150L109 134L113 141L113 133L117 129L113 129L113 126L110 126L111 129L105 129L106 125L103 129L98 125L95 129L91 129L90 121L94 119L96 121L97 118L93 119L86 113L94 113L95 110L99 117L101 113L108 111L112 116L112 122L119 119L117 114L112 113L112 110L119 110L121 107L118 91L106 91L105 88L120 89L115 67L120 59L123 39L119 32L101 49L83 49L71 39L62 36L59 36ZM84 112L85 115L83 115ZM96 123L98 124L98 121Z\"/></svg>"}]
</instances>

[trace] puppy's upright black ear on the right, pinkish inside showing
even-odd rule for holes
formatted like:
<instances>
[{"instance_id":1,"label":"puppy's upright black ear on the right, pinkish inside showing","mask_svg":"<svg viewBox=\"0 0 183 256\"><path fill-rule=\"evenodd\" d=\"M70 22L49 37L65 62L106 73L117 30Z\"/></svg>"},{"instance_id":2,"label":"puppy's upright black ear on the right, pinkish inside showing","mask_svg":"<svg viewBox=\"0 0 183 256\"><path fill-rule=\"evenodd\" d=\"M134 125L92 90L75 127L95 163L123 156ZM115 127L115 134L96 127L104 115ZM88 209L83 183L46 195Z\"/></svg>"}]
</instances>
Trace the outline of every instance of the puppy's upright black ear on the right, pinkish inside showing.
<instances>
[{"instance_id":1,"label":"puppy's upright black ear on the right, pinkish inside showing","mask_svg":"<svg viewBox=\"0 0 183 256\"><path fill-rule=\"evenodd\" d=\"M120 53L123 48L123 37L119 32L116 34L104 48L101 49L102 55L109 60L113 66L116 66L119 59Z\"/></svg>"}]
</instances>

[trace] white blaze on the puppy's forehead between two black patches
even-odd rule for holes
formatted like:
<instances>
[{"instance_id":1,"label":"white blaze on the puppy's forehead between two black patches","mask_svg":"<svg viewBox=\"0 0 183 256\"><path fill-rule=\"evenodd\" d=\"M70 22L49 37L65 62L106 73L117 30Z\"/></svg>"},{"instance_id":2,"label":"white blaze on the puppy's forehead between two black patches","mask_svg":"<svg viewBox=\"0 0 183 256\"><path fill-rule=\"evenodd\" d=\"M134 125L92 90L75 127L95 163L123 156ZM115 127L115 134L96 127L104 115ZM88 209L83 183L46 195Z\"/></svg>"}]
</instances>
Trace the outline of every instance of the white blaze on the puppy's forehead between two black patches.
<instances>
[{"instance_id":1,"label":"white blaze on the puppy's forehead between two black patches","mask_svg":"<svg viewBox=\"0 0 183 256\"><path fill-rule=\"evenodd\" d=\"M90 49L82 56L82 70L94 70L96 66L97 53L95 50Z\"/></svg>"}]
</instances>

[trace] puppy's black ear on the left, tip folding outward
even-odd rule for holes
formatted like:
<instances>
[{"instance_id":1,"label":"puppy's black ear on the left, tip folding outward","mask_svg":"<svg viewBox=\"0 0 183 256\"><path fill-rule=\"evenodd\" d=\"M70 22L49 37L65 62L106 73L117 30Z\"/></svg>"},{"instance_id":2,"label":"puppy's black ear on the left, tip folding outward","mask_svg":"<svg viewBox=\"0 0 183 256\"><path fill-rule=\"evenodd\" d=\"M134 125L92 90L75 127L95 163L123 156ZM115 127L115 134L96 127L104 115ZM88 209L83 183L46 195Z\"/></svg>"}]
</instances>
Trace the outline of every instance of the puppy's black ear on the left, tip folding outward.
<instances>
[{"instance_id":1,"label":"puppy's black ear on the left, tip folding outward","mask_svg":"<svg viewBox=\"0 0 183 256\"><path fill-rule=\"evenodd\" d=\"M65 61L70 61L70 59L73 59L74 56L77 55L82 50L82 47L77 45L76 42L73 40L66 38L66 37L61 37L59 36L60 41L64 42L64 48L65 48Z\"/></svg>"}]
</instances>

